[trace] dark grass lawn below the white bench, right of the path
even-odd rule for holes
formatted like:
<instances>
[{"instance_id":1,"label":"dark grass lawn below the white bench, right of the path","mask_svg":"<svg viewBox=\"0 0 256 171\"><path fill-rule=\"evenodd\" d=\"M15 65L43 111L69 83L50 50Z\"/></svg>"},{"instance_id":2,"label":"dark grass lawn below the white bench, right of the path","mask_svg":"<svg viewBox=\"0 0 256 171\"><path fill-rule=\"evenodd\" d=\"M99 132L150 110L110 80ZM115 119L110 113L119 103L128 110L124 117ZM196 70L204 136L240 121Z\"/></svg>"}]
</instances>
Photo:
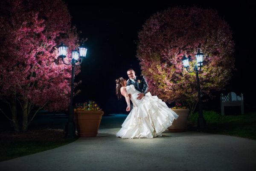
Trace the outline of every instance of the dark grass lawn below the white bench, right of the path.
<instances>
[{"instance_id":1,"label":"dark grass lawn below the white bench, right of the path","mask_svg":"<svg viewBox=\"0 0 256 171\"><path fill-rule=\"evenodd\" d=\"M204 111L207 121L207 133L218 133L239 136L256 140L256 112L236 116L221 116L214 111ZM198 113L194 113L189 120L197 124Z\"/></svg>"}]
</instances>

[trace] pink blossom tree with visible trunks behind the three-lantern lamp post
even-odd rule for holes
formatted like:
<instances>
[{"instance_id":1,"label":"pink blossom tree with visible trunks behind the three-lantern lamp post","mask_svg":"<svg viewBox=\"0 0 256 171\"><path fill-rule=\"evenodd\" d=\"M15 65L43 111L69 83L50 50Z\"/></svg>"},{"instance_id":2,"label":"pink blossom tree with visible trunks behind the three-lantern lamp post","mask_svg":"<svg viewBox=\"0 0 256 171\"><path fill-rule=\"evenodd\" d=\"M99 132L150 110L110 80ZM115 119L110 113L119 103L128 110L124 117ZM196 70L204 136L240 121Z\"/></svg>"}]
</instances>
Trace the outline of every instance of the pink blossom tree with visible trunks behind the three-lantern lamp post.
<instances>
[{"instance_id":1,"label":"pink blossom tree with visible trunks behind the three-lantern lamp post","mask_svg":"<svg viewBox=\"0 0 256 171\"><path fill-rule=\"evenodd\" d=\"M0 11L0 98L9 105L11 117L1 112L19 132L20 104L21 128L26 131L38 110L67 109L71 66L57 58L56 45L63 41L75 49L78 35L61 0L6 0ZM76 67L75 74L79 72Z\"/></svg>"}]
</instances>

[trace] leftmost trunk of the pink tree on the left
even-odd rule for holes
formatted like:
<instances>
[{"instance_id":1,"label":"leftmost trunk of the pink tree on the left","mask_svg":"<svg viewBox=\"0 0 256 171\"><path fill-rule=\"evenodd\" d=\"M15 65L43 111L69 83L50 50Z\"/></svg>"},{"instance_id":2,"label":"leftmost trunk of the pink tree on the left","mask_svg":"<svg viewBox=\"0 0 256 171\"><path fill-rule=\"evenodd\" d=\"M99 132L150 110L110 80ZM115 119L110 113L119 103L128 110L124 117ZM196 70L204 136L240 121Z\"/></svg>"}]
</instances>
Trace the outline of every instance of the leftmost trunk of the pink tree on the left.
<instances>
[{"instance_id":1,"label":"leftmost trunk of the pink tree on the left","mask_svg":"<svg viewBox=\"0 0 256 171\"><path fill-rule=\"evenodd\" d=\"M17 103L16 103L16 92L12 93L11 97L11 114L12 114L12 126L15 132L20 132L19 123L17 121Z\"/></svg>"}]
</instances>

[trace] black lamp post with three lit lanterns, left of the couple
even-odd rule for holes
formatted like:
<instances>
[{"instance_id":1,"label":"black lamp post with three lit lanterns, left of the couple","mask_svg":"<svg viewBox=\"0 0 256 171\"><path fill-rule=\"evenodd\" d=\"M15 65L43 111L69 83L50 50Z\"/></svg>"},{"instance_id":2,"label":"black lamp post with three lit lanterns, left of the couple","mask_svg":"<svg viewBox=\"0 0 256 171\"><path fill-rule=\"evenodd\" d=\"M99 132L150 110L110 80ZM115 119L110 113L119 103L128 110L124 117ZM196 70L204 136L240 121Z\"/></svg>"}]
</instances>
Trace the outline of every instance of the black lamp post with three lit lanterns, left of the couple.
<instances>
[{"instance_id":1,"label":"black lamp post with three lit lanterns, left of the couple","mask_svg":"<svg viewBox=\"0 0 256 171\"><path fill-rule=\"evenodd\" d=\"M70 105L69 105L69 118L67 123L67 139L73 139L75 138L75 123L74 123L74 110L73 110L73 92L74 92L74 70L75 66L81 65L83 58L85 58L87 49L85 46L79 46L79 51L72 50L72 59L69 63L66 63L64 61L64 58L67 56L67 46L65 46L63 43L61 43L60 46L58 46L59 51L59 58L62 58L62 61L65 65L72 65L72 71L71 71L71 91L70 91ZM81 60L79 60L81 59Z\"/></svg>"}]
</instances>

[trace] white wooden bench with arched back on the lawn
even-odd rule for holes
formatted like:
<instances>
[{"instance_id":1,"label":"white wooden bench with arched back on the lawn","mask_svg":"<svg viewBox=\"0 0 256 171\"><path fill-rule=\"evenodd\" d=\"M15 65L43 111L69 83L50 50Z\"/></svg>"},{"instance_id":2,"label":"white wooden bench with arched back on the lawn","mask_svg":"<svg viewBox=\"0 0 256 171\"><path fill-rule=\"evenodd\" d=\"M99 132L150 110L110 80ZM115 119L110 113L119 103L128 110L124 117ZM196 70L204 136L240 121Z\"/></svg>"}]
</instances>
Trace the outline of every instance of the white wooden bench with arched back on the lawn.
<instances>
[{"instance_id":1,"label":"white wooden bench with arched back on the lawn","mask_svg":"<svg viewBox=\"0 0 256 171\"><path fill-rule=\"evenodd\" d=\"M227 96L224 96L221 93L221 115L225 115L224 107L225 106L241 106L241 114L244 114L244 97L241 93L240 96L236 96L236 93L230 92Z\"/></svg>"}]
</instances>

